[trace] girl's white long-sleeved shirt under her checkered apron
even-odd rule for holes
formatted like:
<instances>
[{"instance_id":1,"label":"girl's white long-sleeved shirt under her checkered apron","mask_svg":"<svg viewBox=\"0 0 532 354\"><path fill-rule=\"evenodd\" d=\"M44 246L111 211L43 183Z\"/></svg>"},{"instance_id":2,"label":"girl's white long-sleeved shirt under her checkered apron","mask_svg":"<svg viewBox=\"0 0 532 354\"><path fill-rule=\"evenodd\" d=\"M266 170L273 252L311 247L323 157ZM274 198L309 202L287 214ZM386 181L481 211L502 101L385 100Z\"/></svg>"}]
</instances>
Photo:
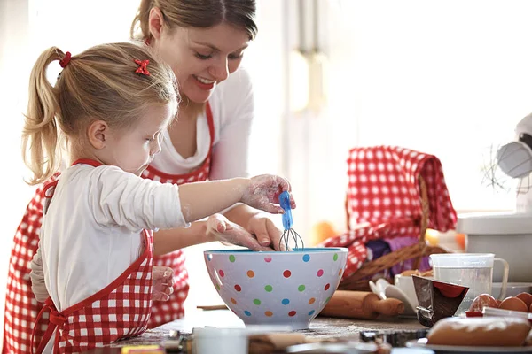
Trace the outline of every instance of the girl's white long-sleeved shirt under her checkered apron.
<instances>
[{"instance_id":1,"label":"girl's white long-sleeved shirt under her checkered apron","mask_svg":"<svg viewBox=\"0 0 532 354\"><path fill-rule=\"evenodd\" d=\"M176 185L116 166L74 165L59 177L43 215L32 282L43 277L61 312L104 289L142 254L143 229L187 225Z\"/></svg>"}]
</instances>

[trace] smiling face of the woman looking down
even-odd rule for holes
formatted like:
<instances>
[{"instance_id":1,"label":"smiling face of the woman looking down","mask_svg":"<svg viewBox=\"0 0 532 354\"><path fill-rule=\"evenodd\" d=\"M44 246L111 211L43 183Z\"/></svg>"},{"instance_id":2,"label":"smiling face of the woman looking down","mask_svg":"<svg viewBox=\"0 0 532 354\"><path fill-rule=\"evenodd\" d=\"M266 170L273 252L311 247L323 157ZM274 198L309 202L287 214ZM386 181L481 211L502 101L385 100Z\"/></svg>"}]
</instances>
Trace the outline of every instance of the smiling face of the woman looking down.
<instances>
[{"instance_id":1,"label":"smiling face of the woman looking down","mask_svg":"<svg viewBox=\"0 0 532 354\"><path fill-rule=\"evenodd\" d=\"M153 46L176 73L181 95L203 103L216 84L239 68L248 44L244 29L223 23L209 28L165 29Z\"/></svg>"}]
</instances>

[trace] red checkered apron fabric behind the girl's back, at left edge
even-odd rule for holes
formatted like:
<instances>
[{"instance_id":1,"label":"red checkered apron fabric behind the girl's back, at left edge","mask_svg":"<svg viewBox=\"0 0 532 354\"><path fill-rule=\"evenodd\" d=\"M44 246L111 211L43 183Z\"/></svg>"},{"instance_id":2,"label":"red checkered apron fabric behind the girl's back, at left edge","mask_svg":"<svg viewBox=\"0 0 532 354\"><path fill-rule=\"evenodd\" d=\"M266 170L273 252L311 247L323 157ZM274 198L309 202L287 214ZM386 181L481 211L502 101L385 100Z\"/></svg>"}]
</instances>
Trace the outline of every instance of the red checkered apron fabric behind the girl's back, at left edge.
<instances>
[{"instance_id":1,"label":"red checkered apron fabric behind the girl's back, at left edge","mask_svg":"<svg viewBox=\"0 0 532 354\"><path fill-rule=\"evenodd\" d=\"M58 177L59 173L46 183L56 181ZM37 313L43 309L43 304L35 300L29 277L31 260L37 251L43 219L43 187L44 185L35 191L35 196L27 204L26 212L13 240L5 294L3 346L5 354L25 354L32 351L30 349L32 330ZM47 323L48 313L35 327L36 338L43 336Z\"/></svg>"}]
</instances>

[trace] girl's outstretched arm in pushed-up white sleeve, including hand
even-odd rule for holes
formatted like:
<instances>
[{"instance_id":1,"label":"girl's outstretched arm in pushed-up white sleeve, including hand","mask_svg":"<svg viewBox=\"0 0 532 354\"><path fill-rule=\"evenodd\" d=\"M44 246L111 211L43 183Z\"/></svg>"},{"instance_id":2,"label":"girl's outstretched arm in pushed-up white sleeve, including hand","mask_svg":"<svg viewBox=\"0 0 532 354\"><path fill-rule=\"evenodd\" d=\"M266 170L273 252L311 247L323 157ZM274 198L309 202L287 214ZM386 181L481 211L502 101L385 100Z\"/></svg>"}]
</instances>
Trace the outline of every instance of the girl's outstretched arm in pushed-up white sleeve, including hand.
<instances>
[{"instance_id":1,"label":"girl's outstretched arm in pushed-up white sleeve, including hand","mask_svg":"<svg viewBox=\"0 0 532 354\"><path fill-rule=\"evenodd\" d=\"M97 222L131 230L187 226L238 202L282 213L278 196L290 190L288 181L268 174L177 187L145 180L113 166L95 168L87 186L90 209ZM295 205L293 199L291 202Z\"/></svg>"}]
</instances>

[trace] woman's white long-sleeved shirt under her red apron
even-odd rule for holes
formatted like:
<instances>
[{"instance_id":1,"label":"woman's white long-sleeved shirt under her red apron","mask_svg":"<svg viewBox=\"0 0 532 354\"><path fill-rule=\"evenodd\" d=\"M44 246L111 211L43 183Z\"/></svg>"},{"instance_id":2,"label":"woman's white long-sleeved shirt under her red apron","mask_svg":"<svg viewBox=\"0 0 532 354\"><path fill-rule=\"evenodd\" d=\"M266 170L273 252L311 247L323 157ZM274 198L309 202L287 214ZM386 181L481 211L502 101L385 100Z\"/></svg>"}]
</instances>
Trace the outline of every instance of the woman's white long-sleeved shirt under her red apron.
<instances>
[{"instance_id":1,"label":"woman's white long-sleeved shirt under her red apron","mask_svg":"<svg viewBox=\"0 0 532 354\"><path fill-rule=\"evenodd\" d=\"M213 114L215 141L210 180L247 177L249 135L254 118L254 96L249 73L240 68L222 81L208 100ZM153 167L163 173L190 173L207 158L210 134L207 115L201 114L196 123L196 153L183 158L168 135L163 135L161 151Z\"/></svg>"}]
</instances>

